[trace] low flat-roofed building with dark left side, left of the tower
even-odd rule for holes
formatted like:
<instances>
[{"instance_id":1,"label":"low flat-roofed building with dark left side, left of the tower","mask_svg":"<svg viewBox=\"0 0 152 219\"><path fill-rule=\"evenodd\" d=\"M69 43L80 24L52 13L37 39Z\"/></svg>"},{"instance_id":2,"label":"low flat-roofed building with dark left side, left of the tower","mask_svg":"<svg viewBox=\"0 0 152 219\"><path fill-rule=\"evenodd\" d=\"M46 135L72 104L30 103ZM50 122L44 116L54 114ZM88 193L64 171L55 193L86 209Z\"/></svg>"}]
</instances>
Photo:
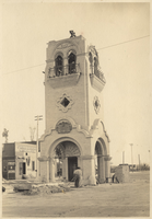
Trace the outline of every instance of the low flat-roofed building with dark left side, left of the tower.
<instances>
[{"instance_id":1,"label":"low flat-roofed building with dark left side, left of the tower","mask_svg":"<svg viewBox=\"0 0 152 219\"><path fill-rule=\"evenodd\" d=\"M36 141L3 143L2 177L20 180L23 175L36 177Z\"/></svg>"}]
</instances>

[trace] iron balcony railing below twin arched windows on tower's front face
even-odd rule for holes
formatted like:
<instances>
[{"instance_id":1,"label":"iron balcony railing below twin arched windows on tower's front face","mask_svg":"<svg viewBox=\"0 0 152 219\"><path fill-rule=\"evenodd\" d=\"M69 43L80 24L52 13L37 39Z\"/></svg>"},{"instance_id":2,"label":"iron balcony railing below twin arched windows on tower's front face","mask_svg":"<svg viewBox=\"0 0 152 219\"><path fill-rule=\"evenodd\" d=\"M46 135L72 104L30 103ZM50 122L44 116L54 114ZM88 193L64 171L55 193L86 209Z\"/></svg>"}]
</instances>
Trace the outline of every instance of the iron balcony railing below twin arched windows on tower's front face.
<instances>
[{"instance_id":1,"label":"iron balcony railing below twin arched windows on tower's front face","mask_svg":"<svg viewBox=\"0 0 152 219\"><path fill-rule=\"evenodd\" d=\"M70 64L48 69L48 78L61 77L72 73L80 73L80 64Z\"/></svg>"}]
</instances>

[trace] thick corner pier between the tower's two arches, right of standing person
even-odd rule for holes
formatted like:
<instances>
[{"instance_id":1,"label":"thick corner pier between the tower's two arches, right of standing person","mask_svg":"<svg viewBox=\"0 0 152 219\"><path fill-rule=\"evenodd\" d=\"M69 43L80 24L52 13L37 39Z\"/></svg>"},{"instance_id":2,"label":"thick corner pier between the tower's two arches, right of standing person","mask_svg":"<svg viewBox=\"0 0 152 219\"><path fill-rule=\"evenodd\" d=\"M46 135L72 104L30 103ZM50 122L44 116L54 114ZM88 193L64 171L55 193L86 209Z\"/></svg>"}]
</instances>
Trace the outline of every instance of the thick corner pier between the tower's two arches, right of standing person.
<instances>
[{"instance_id":1,"label":"thick corner pier between the tower's two arches, right of standing person","mask_svg":"<svg viewBox=\"0 0 152 219\"><path fill-rule=\"evenodd\" d=\"M83 184L96 184L94 155L83 155Z\"/></svg>"}]
</instances>

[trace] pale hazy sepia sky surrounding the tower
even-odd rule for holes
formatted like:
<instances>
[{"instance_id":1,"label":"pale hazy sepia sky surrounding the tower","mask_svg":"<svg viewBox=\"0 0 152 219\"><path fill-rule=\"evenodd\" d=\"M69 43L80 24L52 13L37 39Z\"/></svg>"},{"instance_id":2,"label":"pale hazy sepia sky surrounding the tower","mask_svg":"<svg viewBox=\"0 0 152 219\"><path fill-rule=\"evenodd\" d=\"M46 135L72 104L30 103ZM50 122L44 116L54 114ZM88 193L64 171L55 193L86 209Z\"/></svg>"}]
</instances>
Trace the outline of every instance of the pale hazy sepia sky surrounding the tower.
<instances>
[{"instance_id":1,"label":"pale hazy sepia sky surrounding the tower","mask_svg":"<svg viewBox=\"0 0 152 219\"><path fill-rule=\"evenodd\" d=\"M112 164L150 162L150 5L149 3L3 3L2 126L9 142L31 140L30 127L45 131L44 74L49 41L69 31L95 46L106 78L104 124ZM35 132L36 139L36 132ZM4 142L4 138L2 139Z\"/></svg>"}]
</instances>

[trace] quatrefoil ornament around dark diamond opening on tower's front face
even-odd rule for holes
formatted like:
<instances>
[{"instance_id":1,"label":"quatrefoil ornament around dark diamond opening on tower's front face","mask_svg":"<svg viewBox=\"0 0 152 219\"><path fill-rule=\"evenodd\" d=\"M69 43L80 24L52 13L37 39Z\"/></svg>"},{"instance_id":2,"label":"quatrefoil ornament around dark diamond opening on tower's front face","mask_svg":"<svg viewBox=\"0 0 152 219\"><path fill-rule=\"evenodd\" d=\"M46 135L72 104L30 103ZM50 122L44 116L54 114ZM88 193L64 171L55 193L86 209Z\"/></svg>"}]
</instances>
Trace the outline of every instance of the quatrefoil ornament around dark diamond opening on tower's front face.
<instances>
[{"instance_id":1,"label":"quatrefoil ornament around dark diamond opening on tower's front face","mask_svg":"<svg viewBox=\"0 0 152 219\"><path fill-rule=\"evenodd\" d=\"M62 111L63 113L67 113L71 107L74 102L70 96L67 96L65 93L61 97L57 100L57 107L59 111Z\"/></svg>"}]
</instances>

